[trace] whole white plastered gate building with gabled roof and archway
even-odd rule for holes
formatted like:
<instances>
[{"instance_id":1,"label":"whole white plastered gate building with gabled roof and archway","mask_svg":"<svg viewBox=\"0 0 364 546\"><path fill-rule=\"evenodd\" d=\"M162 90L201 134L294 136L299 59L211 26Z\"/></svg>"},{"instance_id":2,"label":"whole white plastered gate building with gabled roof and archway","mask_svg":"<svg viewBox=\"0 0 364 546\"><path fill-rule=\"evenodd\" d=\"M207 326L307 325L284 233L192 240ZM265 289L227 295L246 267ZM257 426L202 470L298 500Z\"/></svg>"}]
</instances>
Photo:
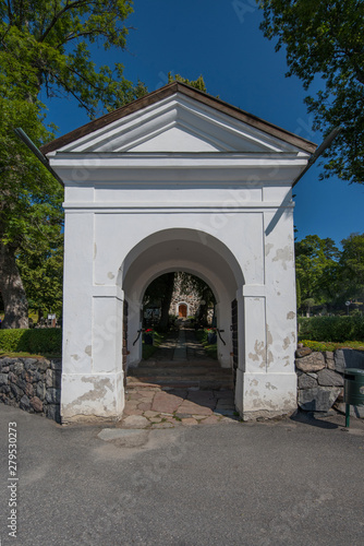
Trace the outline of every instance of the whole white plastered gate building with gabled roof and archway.
<instances>
[{"instance_id":1,"label":"whole white plastered gate building with gabled roof and archway","mask_svg":"<svg viewBox=\"0 0 364 546\"><path fill-rule=\"evenodd\" d=\"M243 418L296 407L291 190L315 149L178 82L43 147L65 189L63 422L121 417L144 292L171 271L215 294Z\"/></svg>"}]
</instances>

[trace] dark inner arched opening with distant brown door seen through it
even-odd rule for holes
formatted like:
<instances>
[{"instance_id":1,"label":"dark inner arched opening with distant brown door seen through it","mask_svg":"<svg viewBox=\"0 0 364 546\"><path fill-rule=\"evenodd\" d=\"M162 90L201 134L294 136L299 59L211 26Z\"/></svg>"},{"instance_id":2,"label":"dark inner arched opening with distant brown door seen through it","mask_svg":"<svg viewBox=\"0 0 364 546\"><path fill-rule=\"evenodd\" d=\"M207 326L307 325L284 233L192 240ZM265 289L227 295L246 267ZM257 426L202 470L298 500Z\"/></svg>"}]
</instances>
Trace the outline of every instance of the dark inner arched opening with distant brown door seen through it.
<instances>
[{"instance_id":1,"label":"dark inner arched opening with distant brown door seen through it","mask_svg":"<svg viewBox=\"0 0 364 546\"><path fill-rule=\"evenodd\" d=\"M222 367L217 359L218 336L222 347L227 337L225 330L213 328L215 307L213 290L196 275L169 272L151 281L144 293L142 334L136 340L142 359L126 370L128 392L137 395L134 385L143 383L168 390L225 390L231 395L233 361Z\"/></svg>"}]
</instances>

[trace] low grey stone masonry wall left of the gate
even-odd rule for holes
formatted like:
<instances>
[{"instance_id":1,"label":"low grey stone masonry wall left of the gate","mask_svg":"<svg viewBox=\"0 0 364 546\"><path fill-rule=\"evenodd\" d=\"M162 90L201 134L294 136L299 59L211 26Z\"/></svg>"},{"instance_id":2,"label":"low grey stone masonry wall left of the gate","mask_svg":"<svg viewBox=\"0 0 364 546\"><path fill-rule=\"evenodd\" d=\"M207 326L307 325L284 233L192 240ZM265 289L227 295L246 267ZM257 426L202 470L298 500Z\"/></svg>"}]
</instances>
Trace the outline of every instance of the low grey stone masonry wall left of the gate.
<instances>
[{"instance_id":1,"label":"low grey stone masonry wall left of the gate","mask_svg":"<svg viewBox=\"0 0 364 546\"><path fill-rule=\"evenodd\" d=\"M0 358L0 402L60 423L62 361Z\"/></svg>"}]
</instances>

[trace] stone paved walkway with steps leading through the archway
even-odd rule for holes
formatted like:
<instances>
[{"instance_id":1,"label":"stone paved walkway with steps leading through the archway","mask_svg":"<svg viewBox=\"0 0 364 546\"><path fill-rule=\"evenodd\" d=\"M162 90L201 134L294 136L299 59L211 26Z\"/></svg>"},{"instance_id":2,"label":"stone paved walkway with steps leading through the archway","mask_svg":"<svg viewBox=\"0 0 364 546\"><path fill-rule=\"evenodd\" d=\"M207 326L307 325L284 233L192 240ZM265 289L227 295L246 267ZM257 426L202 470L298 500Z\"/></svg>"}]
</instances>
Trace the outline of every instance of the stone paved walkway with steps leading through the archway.
<instances>
[{"instance_id":1,"label":"stone paved walkway with steps leading through the archway","mask_svg":"<svg viewBox=\"0 0 364 546\"><path fill-rule=\"evenodd\" d=\"M230 369L206 357L194 331L171 334L130 370L121 428L172 428L238 422Z\"/></svg>"}]
</instances>

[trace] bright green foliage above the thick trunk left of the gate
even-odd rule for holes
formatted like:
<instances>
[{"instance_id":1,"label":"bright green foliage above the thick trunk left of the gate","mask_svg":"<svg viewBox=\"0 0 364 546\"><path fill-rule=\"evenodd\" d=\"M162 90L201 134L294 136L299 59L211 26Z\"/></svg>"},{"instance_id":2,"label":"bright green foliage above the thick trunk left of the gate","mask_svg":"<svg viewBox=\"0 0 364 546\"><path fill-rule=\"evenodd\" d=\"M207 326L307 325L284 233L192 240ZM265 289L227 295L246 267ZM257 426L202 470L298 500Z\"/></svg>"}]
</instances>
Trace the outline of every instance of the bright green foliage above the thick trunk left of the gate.
<instances>
[{"instance_id":1,"label":"bright green foliage above the thick trunk left of the gate","mask_svg":"<svg viewBox=\"0 0 364 546\"><path fill-rule=\"evenodd\" d=\"M0 235L17 248L49 237L54 226L60 230L63 191L13 132L22 127L36 145L52 138L41 124L40 104L13 96L0 85Z\"/></svg>"}]
</instances>

